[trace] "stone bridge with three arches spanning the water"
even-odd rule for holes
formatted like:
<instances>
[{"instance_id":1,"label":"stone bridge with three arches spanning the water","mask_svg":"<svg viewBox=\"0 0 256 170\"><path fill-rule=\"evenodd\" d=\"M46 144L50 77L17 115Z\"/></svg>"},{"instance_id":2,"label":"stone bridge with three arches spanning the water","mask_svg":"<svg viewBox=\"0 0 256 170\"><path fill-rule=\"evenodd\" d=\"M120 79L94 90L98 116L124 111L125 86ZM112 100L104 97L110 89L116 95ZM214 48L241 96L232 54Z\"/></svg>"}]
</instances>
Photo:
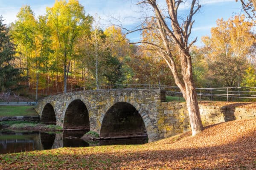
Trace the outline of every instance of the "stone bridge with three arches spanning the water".
<instances>
[{"instance_id":1,"label":"stone bridge with three arches spanning the water","mask_svg":"<svg viewBox=\"0 0 256 170\"><path fill-rule=\"evenodd\" d=\"M165 91L105 89L48 96L38 102L41 121L64 130L90 129L100 136L147 135L152 142L165 135L160 129Z\"/></svg>"}]
</instances>

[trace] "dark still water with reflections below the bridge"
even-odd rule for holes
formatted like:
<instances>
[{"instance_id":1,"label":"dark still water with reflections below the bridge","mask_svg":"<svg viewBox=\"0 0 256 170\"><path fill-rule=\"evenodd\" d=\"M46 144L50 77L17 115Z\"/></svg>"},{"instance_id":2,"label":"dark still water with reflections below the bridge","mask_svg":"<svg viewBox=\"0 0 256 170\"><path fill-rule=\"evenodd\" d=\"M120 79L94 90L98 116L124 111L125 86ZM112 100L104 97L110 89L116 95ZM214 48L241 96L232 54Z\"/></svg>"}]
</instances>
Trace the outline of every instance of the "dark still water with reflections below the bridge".
<instances>
[{"instance_id":1,"label":"dark still water with reflections below the bridge","mask_svg":"<svg viewBox=\"0 0 256 170\"><path fill-rule=\"evenodd\" d=\"M32 150L47 150L59 147L88 147L112 144L144 144L146 138L105 141L84 141L80 139L87 131L65 131L45 133L38 131L0 130L0 154Z\"/></svg>"}]
</instances>

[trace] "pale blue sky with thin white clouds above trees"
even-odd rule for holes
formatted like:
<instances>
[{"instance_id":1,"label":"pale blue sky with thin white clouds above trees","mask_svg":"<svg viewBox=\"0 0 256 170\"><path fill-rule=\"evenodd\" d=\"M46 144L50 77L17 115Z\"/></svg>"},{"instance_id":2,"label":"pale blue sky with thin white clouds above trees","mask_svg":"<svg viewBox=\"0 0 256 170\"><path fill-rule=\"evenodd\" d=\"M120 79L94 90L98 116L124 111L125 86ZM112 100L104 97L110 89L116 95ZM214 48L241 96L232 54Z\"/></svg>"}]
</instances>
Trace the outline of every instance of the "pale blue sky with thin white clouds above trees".
<instances>
[{"instance_id":1,"label":"pale blue sky with thin white clouds above trees","mask_svg":"<svg viewBox=\"0 0 256 170\"><path fill-rule=\"evenodd\" d=\"M190 0L185 0L190 1ZM122 22L122 26L128 29L136 28L142 21L140 17L143 15L140 11L147 11L151 14L151 9L140 8L136 5L137 0L79 0L84 6L87 14L100 17L101 27L104 29L111 26L111 23L119 24L113 18L118 18ZM165 8L165 0L157 0L161 8ZM190 41L198 37L195 45L202 46L202 36L210 36L210 29L216 26L216 20L224 18L228 20L230 17L242 14L241 4L236 0L200 0L202 5L200 11L195 15L194 26ZM46 7L52 7L55 0L0 0L0 15L5 20L4 23L9 24L17 20L16 15L20 7L24 5L31 6L35 16L46 13ZM188 6L183 3L180 6L179 13L185 16L188 12ZM110 22L111 21L111 22ZM131 42L140 40L140 33L128 34Z\"/></svg>"}]
</instances>

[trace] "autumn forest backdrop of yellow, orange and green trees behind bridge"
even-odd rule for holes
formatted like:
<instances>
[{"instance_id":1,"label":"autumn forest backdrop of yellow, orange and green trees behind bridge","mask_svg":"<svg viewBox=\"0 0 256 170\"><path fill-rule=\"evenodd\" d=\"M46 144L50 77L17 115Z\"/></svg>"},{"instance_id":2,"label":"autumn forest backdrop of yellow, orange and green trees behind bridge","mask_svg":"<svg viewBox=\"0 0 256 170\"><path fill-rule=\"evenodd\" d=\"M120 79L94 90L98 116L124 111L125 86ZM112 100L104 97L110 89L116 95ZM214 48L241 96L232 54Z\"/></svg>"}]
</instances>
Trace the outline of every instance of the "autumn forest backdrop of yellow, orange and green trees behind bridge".
<instances>
[{"instance_id":1,"label":"autumn forest backdrop of yellow, orange and green trees behind bridge","mask_svg":"<svg viewBox=\"0 0 256 170\"><path fill-rule=\"evenodd\" d=\"M131 44L119 27L101 28L100 18L87 14L79 1L56 1L46 11L35 17L30 6L23 6L8 27L1 18L2 93L12 91L37 100L83 86L176 86L154 48ZM144 26L151 26L153 20ZM204 46L190 50L196 87L256 87L255 23L247 15L216 23L211 35L202 37ZM159 34L147 30L141 36L148 42L156 41Z\"/></svg>"}]
</instances>

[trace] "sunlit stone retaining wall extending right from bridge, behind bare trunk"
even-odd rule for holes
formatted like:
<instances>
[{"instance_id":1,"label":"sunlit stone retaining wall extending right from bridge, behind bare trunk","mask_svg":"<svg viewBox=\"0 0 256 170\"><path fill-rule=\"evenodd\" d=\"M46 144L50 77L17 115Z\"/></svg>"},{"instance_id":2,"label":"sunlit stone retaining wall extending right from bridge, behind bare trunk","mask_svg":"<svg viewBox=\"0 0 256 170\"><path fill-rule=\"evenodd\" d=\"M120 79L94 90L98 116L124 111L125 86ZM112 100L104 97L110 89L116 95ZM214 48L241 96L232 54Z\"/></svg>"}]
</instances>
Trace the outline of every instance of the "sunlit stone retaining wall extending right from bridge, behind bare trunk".
<instances>
[{"instance_id":1,"label":"sunlit stone retaining wall extending right from bridge, behind bare trunk","mask_svg":"<svg viewBox=\"0 0 256 170\"><path fill-rule=\"evenodd\" d=\"M158 126L162 136L174 136L191 130L185 102L162 102L161 105L163 107L163 117L159 120ZM256 118L256 109L205 105L199 105L199 109L204 126L238 119Z\"/></svg>"}]
</instances>

